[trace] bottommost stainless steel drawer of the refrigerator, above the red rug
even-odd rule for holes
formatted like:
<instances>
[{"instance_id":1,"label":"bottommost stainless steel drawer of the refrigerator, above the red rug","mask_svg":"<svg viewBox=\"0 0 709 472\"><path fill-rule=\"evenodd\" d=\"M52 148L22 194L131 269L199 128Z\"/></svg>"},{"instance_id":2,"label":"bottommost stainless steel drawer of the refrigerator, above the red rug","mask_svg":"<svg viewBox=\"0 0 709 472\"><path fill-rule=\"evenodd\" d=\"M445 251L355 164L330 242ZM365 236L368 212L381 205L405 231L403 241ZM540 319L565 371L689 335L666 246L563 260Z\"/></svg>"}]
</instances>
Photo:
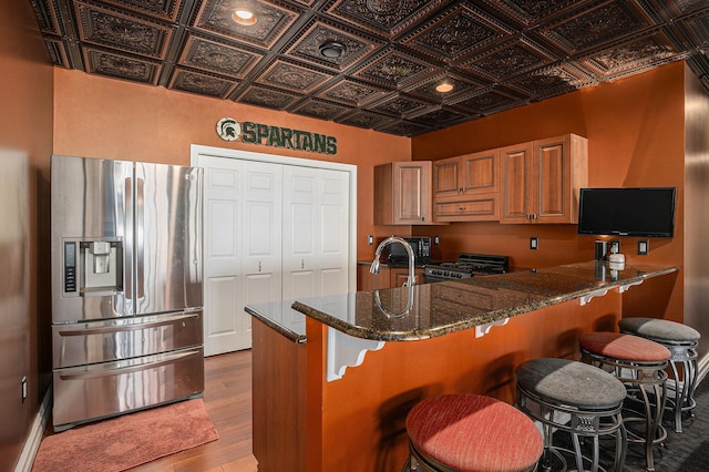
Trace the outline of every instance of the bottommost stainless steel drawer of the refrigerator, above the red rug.
<instances>
[{"instance_id":1,"label":"bottommost stainless steel drawer of the refrigerator, above the red rug","mask_svg":"<svg viewBox=\"0 0 709 472\"><path fill-rule=\"evenodd\" d=\"M204 350L104 362L54 372L55 431L204 391Z\"/></svg>"}]
</instances>

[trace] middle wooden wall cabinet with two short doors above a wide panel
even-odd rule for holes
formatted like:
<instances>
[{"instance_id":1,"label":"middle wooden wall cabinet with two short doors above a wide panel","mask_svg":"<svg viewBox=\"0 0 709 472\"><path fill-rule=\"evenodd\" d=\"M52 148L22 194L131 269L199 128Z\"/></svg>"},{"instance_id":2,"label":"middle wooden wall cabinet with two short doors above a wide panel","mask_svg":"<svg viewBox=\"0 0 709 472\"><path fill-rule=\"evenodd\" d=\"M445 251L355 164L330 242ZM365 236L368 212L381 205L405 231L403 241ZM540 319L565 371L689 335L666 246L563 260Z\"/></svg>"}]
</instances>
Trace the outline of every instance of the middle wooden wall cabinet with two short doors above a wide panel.
<instances>
[{"instance_id":1,"label":"middle wooden wall cabinet with two short doors above a wide panel","mask_svg":"<svg viewBox=\"0 0 709 472\"><path fill-rule=\"evenodd\" d=\"M436 222L500 219L499 150L435 161L432 167Z\"/></svg>"}]
</instances>

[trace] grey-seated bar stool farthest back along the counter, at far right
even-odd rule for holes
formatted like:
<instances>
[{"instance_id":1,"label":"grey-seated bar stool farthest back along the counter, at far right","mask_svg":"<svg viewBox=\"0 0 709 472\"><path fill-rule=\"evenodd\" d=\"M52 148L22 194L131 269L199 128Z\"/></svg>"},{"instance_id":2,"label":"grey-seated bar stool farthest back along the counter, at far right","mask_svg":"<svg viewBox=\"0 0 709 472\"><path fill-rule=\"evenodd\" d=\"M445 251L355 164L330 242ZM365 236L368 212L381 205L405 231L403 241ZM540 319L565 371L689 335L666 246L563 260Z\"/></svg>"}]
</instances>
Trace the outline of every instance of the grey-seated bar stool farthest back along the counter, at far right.
<instances>
[{"instance_id":1,"label":"grey-seated bar stool farthest back along the counter, at far right","mask_svg":"<svg viewBox=\"0 0 709 472\"><path fill-rule=\"evenodd\" d=\"M620 332L658 342L670 351L669 366L675 394L668 400L675 412L675 431L682 432L682 412L693 415L697 406L697 346L701 335L693 328L665 319L630 317L618 321ZM681 374L680 374L681 373ZM668 382L669 383L669 382Z\"/></svg>"}]
</instances>

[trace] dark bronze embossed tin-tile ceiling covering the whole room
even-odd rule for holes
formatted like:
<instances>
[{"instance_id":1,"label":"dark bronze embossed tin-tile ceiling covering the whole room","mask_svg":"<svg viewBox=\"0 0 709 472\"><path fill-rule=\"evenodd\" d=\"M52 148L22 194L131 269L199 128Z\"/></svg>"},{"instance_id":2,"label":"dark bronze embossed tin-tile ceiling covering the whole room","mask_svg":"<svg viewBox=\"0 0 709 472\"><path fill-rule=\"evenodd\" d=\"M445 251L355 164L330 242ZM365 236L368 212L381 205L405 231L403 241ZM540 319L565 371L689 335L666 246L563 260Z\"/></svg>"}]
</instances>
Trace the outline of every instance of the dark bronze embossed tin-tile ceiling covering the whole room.
<instances>
[{"instance_id":1,"label":"dark bronze embossed tin-tile ceiling covering the whole room","mask_svg":"<svg viewBox=\"0 0 709 472\"><path fill-rule=\"evenodd\" d=\"M402 136L681 59L709 82L707 0L27 1L56 66Z\"/></svg>"}]
</instances>

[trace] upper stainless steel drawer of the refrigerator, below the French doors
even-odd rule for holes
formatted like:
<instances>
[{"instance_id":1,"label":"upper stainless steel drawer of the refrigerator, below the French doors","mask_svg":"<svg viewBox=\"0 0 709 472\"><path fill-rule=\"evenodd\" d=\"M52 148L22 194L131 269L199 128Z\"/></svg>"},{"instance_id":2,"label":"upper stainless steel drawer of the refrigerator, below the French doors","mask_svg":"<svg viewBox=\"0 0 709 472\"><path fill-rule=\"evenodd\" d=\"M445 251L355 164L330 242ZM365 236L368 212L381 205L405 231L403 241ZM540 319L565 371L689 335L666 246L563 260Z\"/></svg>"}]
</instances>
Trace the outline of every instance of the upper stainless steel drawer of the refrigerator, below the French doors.
<instances>
[{"instance_id":1,"label":"upper stainless steel drawer of the refrigerator, below the French doors","mask_svg":"<svg viewBox=\"0 0 709 472\"><path fill-rule=\"evenodd\" d=\"M203 343L202 310L52 326L60 369L156 355Z\"/></svg>"}]
</instances>

